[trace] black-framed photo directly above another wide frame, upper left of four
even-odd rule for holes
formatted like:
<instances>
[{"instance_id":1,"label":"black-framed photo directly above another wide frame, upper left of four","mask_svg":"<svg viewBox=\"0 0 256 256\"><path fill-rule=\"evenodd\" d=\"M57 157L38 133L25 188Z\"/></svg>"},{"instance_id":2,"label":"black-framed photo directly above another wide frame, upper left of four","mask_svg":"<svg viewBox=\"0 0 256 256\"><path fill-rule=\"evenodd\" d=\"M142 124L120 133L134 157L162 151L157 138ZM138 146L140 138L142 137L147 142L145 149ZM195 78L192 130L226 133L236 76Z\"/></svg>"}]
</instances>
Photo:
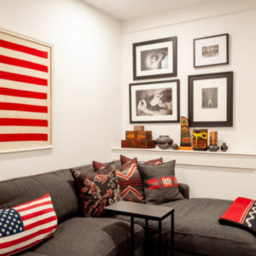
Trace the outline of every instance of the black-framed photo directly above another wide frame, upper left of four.
<instances>
[{"instance_id":1,"label":"black-framed photo directly above another wide frame, upper left of four","mask_svg":"<svg viewBox=\"0 0 256 256\"><path fill-rule=\"evenodd\" d=\"M133 44L133 79L177 76L177 37Z\"/></svg>"}]
</instances>

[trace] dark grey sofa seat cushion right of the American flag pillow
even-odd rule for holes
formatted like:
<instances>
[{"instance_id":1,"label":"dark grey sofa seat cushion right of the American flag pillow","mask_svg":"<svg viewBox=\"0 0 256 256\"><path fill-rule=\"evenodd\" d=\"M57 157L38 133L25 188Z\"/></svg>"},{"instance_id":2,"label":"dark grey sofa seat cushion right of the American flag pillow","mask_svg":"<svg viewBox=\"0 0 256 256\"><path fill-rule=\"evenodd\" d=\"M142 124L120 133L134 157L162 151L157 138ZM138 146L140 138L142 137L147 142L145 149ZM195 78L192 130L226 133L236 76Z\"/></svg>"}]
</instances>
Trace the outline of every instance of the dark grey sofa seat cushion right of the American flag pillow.
<instances>
[{"instance_id":1,"label":"dark grey sofa seat cushion right of the American flag pillow","mask_svg":"<svg viewBox=\"0 0 256 256\"><path fill-rule=\"evenodd\" d=\"M143 242L143 228L135 225L135 247ZM34 252L46 255L116 256L130 253L130 222L114 218L70 218L61 223L53 239Z\"/></svg>"}]
</instances>

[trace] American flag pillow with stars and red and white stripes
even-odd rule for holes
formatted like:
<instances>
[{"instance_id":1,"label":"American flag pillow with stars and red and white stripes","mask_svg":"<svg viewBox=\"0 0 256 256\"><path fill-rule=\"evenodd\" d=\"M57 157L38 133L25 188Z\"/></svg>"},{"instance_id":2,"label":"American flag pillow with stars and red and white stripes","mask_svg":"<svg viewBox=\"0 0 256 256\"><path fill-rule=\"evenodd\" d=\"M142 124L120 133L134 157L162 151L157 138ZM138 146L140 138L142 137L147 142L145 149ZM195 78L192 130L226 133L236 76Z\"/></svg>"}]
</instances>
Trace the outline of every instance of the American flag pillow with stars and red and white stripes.
<instances>
[{"instance_id":1,"label":"American flag pillow with stars and red and white stripes","mask_svg":"<svg viewBox=\"0 0 256 256\"><path fill-rule=\"evenodd\" d=\"M57 217L50 195L0 210L0 255L11 255L52 236Z\"/></svg>"}]
</instances>

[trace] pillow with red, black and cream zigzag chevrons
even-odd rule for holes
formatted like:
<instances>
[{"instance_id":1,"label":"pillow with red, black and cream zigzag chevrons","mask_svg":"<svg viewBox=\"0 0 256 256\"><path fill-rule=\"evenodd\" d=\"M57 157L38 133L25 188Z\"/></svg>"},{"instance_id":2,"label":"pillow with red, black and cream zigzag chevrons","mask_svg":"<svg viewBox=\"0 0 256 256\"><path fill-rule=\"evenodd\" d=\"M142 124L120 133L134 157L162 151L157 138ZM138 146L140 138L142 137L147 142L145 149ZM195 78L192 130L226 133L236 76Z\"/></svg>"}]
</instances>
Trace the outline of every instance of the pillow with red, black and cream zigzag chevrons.
<instances>
[{"instance_id":1,"label":"pillow with red, black and cream zigzag chevrons","mask_svg":"<svg viewBox=\"0 0 256 256\"><path fill-rule=\"evenodd\" d=\"M116 171L124 201L145 202L143 182L137 171L137 159L130 160Z\"/></svg>"}]
</instances>

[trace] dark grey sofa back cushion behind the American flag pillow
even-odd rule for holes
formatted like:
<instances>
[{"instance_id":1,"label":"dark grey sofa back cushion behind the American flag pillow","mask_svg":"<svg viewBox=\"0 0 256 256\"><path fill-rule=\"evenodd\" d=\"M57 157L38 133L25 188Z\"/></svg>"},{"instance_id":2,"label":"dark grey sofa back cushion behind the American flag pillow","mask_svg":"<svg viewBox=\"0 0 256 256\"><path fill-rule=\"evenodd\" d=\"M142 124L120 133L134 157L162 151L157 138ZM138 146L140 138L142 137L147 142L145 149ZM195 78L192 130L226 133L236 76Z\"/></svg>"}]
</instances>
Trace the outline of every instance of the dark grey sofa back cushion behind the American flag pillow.
<instances>
[{"instance_id":1,"label":"dark grey sofa back cushion behind the American flag pillow","mask_svg":"<svg viewBox=\"0 0 256 256\"><path fill-rule=\"evenodd\" d=\"M49 194L58 222L79 215L79 199L68 169L0 182L0 208L15 207Z\"/></svg>"}]
</instances>

